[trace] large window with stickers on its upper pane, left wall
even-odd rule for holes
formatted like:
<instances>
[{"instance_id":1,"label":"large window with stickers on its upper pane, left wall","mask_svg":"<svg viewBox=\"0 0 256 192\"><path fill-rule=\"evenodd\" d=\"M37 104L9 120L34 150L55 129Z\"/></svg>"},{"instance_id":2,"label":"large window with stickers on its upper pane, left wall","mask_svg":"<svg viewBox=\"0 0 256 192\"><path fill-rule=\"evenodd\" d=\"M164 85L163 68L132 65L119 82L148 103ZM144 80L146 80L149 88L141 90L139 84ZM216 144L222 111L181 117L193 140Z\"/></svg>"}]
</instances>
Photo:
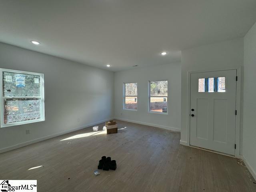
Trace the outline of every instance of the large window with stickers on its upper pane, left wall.
<instances>
[{"instance_id":1,"label":"large window with stickers on its upper pane, left wall","mask_svg":"<svg viewBox=\"0 0 256 192\"><path fill-rule=\"evenodd\" d=\"M44 75L0 69L1 127L44 121Z\"/></svg>"}]
</instances>

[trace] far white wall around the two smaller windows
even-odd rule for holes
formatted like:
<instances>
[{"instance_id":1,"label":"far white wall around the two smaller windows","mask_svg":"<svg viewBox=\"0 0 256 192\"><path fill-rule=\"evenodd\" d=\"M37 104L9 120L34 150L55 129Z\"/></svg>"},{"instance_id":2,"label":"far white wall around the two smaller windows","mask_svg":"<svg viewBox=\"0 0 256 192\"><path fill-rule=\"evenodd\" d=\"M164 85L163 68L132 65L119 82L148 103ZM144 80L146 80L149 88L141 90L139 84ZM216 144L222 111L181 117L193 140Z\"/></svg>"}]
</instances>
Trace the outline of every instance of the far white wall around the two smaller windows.
<instances>
[{"instance_id":1,"label":"far white wall around the two smaller windows","mask_svg":"<svg viewBox=\"0 0 256 192\"><path fill-rule=\"evenodd\" d=\"M148 113L148 81L168 80L168 115ZM180 130L180 63L115 72L115 118ZM123 110L123 83L138 83L138 110Z\"/></svg>"}]
</instances>

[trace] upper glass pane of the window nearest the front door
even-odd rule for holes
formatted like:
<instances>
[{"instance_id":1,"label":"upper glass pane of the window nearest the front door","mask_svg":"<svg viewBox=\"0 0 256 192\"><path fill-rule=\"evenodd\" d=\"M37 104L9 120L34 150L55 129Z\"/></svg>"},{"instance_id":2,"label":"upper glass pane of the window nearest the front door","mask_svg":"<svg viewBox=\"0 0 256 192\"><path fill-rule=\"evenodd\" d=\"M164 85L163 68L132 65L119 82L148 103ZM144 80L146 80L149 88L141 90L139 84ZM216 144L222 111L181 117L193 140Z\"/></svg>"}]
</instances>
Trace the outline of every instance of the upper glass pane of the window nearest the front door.
<instances>
[{"instance_id":1,"label":"upper glass pane of the window nearest the front door","mask_svg":"<svg viewBox=\"0 0 256 192\"><path fill-rule=\"evenodd\" d=\"M150 96L168 96L168 81L150 82Z\"/></svg>"}]
</instances>

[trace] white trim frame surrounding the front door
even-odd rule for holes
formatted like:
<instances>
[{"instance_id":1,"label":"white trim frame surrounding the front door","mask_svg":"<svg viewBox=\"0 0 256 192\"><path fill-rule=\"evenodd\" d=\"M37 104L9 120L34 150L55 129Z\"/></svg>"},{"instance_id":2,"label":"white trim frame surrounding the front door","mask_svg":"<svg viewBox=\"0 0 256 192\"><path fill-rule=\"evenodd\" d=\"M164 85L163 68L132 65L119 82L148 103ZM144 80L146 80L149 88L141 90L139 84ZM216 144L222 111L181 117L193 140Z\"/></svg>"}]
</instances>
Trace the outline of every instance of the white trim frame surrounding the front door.
<instances>
[{"instance_id":1,"label":"white trim frame surrounding the front door","mask_svg":"<svg viewBox=\"0 0 256 192\"><path fill-rule=\"evenodd\" d=\"M220 69L220 70L208 70L208 71L188 71L188 89L187 89L187 145L190 147L193 147L190 145L190 78L191 78L191 74L192 73L203 73L203 72L215 72L215 71L224 71L224 70L236 70L236 75L238 76L237 82L236 82L236 131L235 131L235 144L236 144L236 149L235 149L235 157L236 158L241 158L240 155L240 135L241 132L241 87L242 87L242 80L243 80L243 76L242 76L242 66L238 67L238 68L231 68L231 69ZM211 151L211 150L209 150ZM221 152L216 152L216 153L220 153ZM232 155L230 155L232 156Z\"/></svg>"}]
</instances>

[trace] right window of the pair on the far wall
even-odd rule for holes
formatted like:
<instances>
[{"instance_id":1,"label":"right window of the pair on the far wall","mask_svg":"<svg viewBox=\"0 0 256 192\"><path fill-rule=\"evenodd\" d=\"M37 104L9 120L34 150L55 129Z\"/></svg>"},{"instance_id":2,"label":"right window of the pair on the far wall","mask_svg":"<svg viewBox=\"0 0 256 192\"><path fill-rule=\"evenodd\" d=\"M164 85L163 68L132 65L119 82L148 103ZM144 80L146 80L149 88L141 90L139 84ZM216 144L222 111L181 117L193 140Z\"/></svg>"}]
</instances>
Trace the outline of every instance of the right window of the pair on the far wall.
<instances>
[{"instance_id":1,"label":"right window of the pair on the far wall","mask_svg":"<svg viewBox=\"0 0 256 192\"><path fill-rule=\"evenodd\" d=\"M149 81L149 112L167 114L168 81Z\"/></svg>"}]
</instances>

